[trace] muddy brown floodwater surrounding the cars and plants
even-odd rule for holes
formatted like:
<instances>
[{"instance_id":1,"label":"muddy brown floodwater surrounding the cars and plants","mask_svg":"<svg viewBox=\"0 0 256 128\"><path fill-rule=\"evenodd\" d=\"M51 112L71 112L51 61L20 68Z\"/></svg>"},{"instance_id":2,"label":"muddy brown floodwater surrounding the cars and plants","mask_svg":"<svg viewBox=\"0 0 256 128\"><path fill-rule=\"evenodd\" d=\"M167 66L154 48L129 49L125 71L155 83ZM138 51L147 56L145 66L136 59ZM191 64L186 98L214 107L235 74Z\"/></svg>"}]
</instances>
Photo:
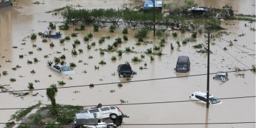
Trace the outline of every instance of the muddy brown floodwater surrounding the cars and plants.
<instances>
[{"instance_id":1,"label":"muddy brown floodwater surrounding the cars and plants","mask_svg":"<svg viewBox=\"0 0 256 128\"><path fill-rule=\"evenodd\" d=\"M72 28L79 26L72 26L68 31L61 31L62 36L70 35L70 33L79 33L77 37L72 37L71 40L65 41L64 44L59 43L59 39L48 39L48 42L43 43L42 38L37 36L36 40L30 40L27 36L31 33L44 32L49 26L49 22L56 22L56 26L60 26L63 21L61 15L52 15L45 13L54 8L61 8L66 5L81 5L76 8L120 8L124 3L132 3L132 1L113 1L113 0L88 0L88 1L44 1L45 4L31 4L31 0L13 2L15 5L8 8L0 9L0 84L10 84L10 90L28 90L28 83L33 83L35 89L48 88L51 84L57 84L58 81L64 81L66 84L58 87L81 86L88 84L95 85L94 88L88 86L76 88L62 88L58 89L56 94L56 102L58 104L72 104L80 106L90 106L101 104L120 104L120 99L127 101L122 106L118 106L124 114L130 118L124 118L122 127L255 127L254 124L209 124L205 123L233 123L233 122L255 122L255 97L244 99L226 99L221 100L223 103L216 106L210 106L206 109L205 104L198 102L173 102L163 104L138 104L125 105L130 103L145 103L145 102L170 102L189 100L189 95L193 92L206 92L207 76L193 76L198 74L207 74L207 54L198 53L193 49L193 45L204 43L207 38L204 38L206 33L198 35L196 42L189 42L186 45L177 47L176 40L191 36L191 33L186 32L178 36L168 37L167 44L162 47L163 56L154 56L155 60L150 61L150 56L143 53L146 49L158 45L159 38L153 37L153 31L150 31L148 38L144 40L153 41L153 44L148 45L134 45L137 40L133 38L134 33L138 30L129 29L128 41L119 44L117 49L125 50L125 47L134 47L133 51L137 53L123 53L121 57L117 56L116 52L105 52L100 55L99 50L106 49L108 44L113 44L115 38L122 38L122 28L116 29L115 33L109 33L108 28L100 28L99 32L92 31L91 26L86 26L85 31L73 31ZM166 1L168 2L168 1ZM204 1L196 0L200 6L214 6L220 8L225 4L233 6L235 13L255 14L254 0L216 0ZM247 26L244 26L247 24ZM251 68L255 65L255 31L250 30L250 27L255 28L255 22L252 24L248 21L225 21L221 23L223 28L227 28L229 35L224 35L224 40L219 38L211 39L215 45L211 45L211 63L210 72L214 73L219 70L232 71L234 67L241 69ZM59 31L58 28L56 31ZM174 31L170 31L170 35ZM88 42L83 42L83 37L88 33L93 34L93 38ZM216 35L217 32L212 32ZM244 36L238 36L245 34ZM99 38L102 36L111 36L106 39L103 44L99 44ZM80 40L81 44L77 45L78 49L83 49L83 53L72 55L72 43L74 40ZM234 42L237 45L228 46L225 41L237 40ZM22 43L26 45L22 45ZM50 47L49 44L53 42L55 47ZM86 48L87 44L96 42L92 49ZM172 51L170 43L175 47ZM36 44L36 47L32 45ZM206 44L205 44L206 45ZM242 47L239 47L241 45ZM12 47L17 46L17 49ZM235 47L236 46L236 47ZM37 51L38 47L42 47L42 51ZM227 52L223 48L227 47ZM64 51L63 48L67 49ZM33 54L28 54L33 51ZM58 53L61 52L61 53ZM157 51L154 51L157 52ZM23 54L24 58L20 59L19 55ZM77 67L73 79L68 79L68 76L63 76L53 72L48 66L47 61L53 61L54 57L60 57L62 54L66 56L67 63L76 63ZM145 55L143 62L134 63L131 58L141 54ZM49 58L44 58L44 55L49 55ZM173 68L178 56L186 55L191 60L191 71L189 76L180 77L180 74L175 74ZM89 59L88 56L93 56ZM111 56L116 56L116 61L111 61ZM40 60L37 63L27 64L27 61L33 61L33 58ZM79 63L79 60L83 61ZM99 61L106 61L106 65L99 65ZM9 62L8 62L9 61ZM123 83L122 88L118 88L117 83L125 82L124 78L119 78L116 74L116 68L120 63L129 61L132 70L137 72L131 81L138 81L132 83ZM86 65L84 65L86 63ZM144 66L147 63L147 67ZM16 65L21 68L12 70ZM94 69L94 65L99 66L99 70ZM140 67L147 69L140 70ZM30 71L35 70L35 74ZM86 74L83 71L86 70ZM7 71L8 75L3 76L3 71ZM115 73L115 76L113 75ZM244 77L237 76L237 74L244 74ZM51 77L49 77L51 75ZM218 98L229 97L248 97L255 96L255 72L230 72L228 74L229 81L223 83L218 80L213 80L214 74L210 75L210 93ZM183 75L184 76L184 75ZM170 77L170 79L160 79ZM10 79L15 78L15 82ZM159 79L155 81L140 81L146 79ZM35 80L40 82L35 83ZM109 83L109 84L104 84ZM115 84L111 84L115 83ZM115 90L111 93L110 90ZM74 93L77 92L78 93ZM25 96L23 99L15 97L10 93L0 93L1 104L0 108L27 108L36 104L41 100L44 104L51 104L45 95L45 90L36 90L31 92L33 94L39 93L35 97L31 95ZM0 110L0 122L8 122L10 116L13 115L17 109ZM197 125L129 125L129 124L197 124ZM4 125L1 125L4 127Z\"/></svg>"}]
</instances>

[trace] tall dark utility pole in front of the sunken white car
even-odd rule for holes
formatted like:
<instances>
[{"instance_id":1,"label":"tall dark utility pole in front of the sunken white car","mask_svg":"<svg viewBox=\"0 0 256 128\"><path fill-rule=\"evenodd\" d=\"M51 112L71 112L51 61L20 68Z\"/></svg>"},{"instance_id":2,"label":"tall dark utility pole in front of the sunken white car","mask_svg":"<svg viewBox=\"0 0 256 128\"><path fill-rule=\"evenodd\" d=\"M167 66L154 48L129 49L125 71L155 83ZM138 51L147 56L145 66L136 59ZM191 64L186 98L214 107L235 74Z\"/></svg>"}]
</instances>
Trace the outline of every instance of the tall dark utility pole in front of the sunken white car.
<instances>
[{"instance_id":1,"label":"tall dark utility pole in front of the sunken white car","mask_svg":"<svg viewBox=\"0 0 256 128\"><path fill-rule=\"evenodd\" d=\"M206 99L206 108L209 108L209 81L210 81L210 27L208 29L208 49L207 49L207 99Z\"/></svg>"}]
</instances>

